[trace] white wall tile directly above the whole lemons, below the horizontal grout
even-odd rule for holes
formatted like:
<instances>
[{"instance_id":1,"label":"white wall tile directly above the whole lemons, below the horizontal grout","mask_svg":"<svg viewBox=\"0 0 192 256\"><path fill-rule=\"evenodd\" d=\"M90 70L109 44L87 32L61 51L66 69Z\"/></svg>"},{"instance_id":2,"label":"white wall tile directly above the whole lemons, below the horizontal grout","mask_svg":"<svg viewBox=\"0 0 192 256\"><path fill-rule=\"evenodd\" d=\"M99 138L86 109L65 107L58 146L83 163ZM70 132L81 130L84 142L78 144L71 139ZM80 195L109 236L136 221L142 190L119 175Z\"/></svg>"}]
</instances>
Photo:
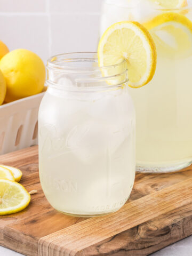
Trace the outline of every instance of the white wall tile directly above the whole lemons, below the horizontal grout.
<instances>
[{"instance_id":1,"label":"white wall tile directly above the whole lemons, below the horizontal grout","mask_svg":"<svg viewBox=\"0 0 192 256\"><path fill-rule=\"evenodd\" d=\"M7 0L9 1L9 0ZM0 40L9 50L28 49L37 53L44 61L49 54L48 18L45 15L0 14Z\"/></svg>"}]
</instances>

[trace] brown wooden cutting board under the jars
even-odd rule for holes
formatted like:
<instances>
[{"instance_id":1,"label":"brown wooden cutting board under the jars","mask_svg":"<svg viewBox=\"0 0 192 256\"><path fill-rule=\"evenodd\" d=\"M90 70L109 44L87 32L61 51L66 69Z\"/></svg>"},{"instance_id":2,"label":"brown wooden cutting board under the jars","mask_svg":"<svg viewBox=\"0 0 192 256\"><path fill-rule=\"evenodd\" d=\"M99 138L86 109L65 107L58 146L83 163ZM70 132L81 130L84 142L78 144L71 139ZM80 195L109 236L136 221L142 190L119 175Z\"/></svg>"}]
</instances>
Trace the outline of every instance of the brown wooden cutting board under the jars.
<instances>
[{"instance_id":1,"label":"brown wooden cutting board under the jars","mask_svg":"<svg viewBox=\"0 0 192 256\"><path fill-rule=\"evenodd\" d=\"M22 185L37 189L24 211L0 218L0 245L29 256L149 255L192 234L192 167L172 174L138 173L116 213L77 218L55 211L38 177L37 146L0 156L20 167Z\"/></svg>"}]
</instances>

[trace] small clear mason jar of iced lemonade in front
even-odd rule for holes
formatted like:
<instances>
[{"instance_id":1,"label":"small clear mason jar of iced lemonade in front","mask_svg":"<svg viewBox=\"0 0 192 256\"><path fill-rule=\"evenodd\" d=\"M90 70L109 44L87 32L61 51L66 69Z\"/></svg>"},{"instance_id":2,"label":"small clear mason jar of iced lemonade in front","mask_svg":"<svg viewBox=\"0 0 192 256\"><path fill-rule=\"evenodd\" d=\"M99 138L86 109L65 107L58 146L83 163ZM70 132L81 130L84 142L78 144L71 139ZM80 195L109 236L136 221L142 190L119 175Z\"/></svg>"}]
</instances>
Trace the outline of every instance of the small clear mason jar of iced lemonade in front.
<instances>
[{"instance_id":1,"label":"small clear mason jar of iced lemonade in front","mask_svg":"<svg viewBox=\"0 0 192 256\"><path fill-rule=\"evenodd\" d=\"M99 68L95 56L51 58L39 109L44 194L58 211L83 217L120 209L135 178L135 112L126 63ZM106 70L113 76L106 77Z\"/></svg>"}]
</instances>

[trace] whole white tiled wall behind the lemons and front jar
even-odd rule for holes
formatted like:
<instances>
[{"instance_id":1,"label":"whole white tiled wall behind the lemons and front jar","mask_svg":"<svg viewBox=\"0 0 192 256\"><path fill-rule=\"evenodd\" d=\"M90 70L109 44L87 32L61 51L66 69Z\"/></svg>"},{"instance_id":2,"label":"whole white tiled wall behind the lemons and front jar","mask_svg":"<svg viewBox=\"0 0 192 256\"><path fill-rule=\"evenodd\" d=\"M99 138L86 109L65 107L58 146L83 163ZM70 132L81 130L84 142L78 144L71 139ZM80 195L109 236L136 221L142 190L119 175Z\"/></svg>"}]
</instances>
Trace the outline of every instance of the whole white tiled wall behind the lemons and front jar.
<instances>
[{"instance_id":1,"label":"whole white tiled wall behind the lemons and front jar","mask_svg":"<svg viewBox=\"0 0 192 256\"><path fill-rule=\"evenodd\" d=\"M95 51L103 0L0 0L0 40L46 63L53 54Z\"/></svg>"}]
</instances>

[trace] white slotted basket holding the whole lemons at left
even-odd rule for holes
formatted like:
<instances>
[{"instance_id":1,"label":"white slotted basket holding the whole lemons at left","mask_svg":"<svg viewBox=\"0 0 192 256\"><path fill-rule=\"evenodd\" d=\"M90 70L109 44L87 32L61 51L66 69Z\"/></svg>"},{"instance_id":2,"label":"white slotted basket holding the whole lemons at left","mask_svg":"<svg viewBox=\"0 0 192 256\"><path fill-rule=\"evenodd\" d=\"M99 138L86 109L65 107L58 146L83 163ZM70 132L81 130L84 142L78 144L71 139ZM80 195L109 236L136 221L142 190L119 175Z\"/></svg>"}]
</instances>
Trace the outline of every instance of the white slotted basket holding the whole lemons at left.
<instances>
[{"instance_id":1,"label":"white slotted basket holding the whole lemons at left","mask_svg":"<svg viewBox=\"0 0 192 256\"><path fill-rule=\"evenodd\" d=\"M0 106L0 155L38 143L38 109L44 92Z\"/></svg>"}]
</instances>

